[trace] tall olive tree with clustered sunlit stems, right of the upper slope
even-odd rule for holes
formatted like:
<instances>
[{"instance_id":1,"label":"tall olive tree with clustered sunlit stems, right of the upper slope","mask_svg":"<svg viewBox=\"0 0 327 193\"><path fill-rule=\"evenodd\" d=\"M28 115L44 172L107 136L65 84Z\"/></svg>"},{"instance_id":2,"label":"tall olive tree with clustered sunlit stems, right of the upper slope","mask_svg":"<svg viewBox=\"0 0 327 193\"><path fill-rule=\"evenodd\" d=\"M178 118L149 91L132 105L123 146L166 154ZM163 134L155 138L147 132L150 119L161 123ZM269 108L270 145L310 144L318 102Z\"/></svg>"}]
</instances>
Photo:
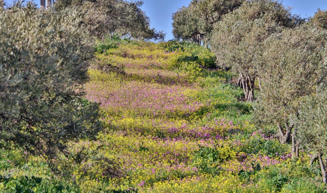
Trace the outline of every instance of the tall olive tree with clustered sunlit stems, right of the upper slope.
<instances>
[{"instance_id":1,"label":"tall olive tree with clustered sunlit stems, right of the upper slope","mask_svg":"<svg viewBox=\"0 0 327 193\"><path fill-rule=\"evenodd\" d=\"M290 10L273 0L245 1L241 7L226 14L215 24L211 49L223 67L239 75L245 100L254 100L256 66L263 53L264 41L284 26L293 26L296 19Z\"/></svg>"}]
</instances>

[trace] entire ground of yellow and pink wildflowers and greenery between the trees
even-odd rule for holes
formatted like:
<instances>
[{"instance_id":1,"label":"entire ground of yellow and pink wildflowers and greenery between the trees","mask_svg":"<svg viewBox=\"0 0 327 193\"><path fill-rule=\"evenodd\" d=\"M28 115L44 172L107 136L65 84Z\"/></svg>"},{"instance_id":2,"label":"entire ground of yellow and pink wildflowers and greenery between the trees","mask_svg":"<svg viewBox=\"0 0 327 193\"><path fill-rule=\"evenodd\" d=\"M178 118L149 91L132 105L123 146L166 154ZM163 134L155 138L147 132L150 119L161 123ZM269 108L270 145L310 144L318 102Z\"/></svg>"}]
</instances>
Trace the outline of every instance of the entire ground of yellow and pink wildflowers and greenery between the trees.
<instances>
[{"instance_id":1,"label":"entire ground of yellow and pink wildflowers and greenery between the trees","mask_svg":"<svg viewBox=\"0 0 327 193\"><path fill-rule=\"evenodd\" d=\"M101 104L102 131L71 142L75 159L62 155L55 171L0 150L0 190L326 192L309 155L292 161L273 129L251 124L251 104L208 49L120 40L96 50L86 99Z\"/></svg>"}]
</instances>

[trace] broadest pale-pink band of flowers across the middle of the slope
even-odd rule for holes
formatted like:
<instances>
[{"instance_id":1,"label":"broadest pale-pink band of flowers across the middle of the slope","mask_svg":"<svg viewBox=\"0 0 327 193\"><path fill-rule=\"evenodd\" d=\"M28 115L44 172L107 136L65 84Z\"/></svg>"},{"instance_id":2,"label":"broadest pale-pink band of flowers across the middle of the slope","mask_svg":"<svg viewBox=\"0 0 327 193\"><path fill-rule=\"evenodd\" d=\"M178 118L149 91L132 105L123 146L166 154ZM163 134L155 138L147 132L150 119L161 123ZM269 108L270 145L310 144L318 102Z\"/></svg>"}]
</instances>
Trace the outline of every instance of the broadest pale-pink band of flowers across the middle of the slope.
<instances>
[{"instance_id":1,"label":"broadest pale-pink band of flowers across the middle of the slope","mask_svg":"<svg viewBox=\"0 0 327 193\"><path fill-rule=\"evenodd\" d=\"M87 99L113 110L147 111L154 115L183 112L192 113L204 104L187 97L185 87L163 86L139 81L123 83L112 88L111 83L90 83ZM195 88L189 88L194 89Z\"/></svg>"}]
</instances>

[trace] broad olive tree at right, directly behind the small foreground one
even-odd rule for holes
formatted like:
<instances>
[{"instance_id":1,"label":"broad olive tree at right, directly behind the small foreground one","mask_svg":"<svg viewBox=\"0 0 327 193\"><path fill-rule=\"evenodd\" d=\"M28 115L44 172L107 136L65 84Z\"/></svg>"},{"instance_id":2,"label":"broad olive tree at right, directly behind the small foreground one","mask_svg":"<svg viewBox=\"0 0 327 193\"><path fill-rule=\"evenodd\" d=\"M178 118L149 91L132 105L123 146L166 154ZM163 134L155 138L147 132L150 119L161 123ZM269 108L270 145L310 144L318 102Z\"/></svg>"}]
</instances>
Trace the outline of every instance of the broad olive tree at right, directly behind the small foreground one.
<instances>
[{"instance_id":1,"label":"broad olive tree at right, directly behind the small foreground one","mask_svg":"<svg viewBox=\"0 0 327 193\"><path fill-rule=\"evenodd\" d=\"M293 157L299 144L295 141L297 125L290 118L298 113L301 97L315 92L325 81L326 42L326 31L305 25L284 29L265 41L263 62L256 67L262 89L253 105L253 120L259 125L275 125L283 144L292 139Z\"/></svg>"}]
</instances>

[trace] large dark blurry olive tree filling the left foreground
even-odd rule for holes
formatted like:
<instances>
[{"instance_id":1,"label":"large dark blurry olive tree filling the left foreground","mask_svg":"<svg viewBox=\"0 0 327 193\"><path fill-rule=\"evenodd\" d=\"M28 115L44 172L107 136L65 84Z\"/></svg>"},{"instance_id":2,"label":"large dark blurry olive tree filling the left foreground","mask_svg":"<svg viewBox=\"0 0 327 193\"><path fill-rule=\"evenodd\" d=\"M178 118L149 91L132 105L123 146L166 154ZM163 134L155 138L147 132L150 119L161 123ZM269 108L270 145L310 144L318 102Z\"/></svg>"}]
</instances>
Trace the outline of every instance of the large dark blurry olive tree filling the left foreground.
<instances>
[{"instance_id":1,"label":"large dark blurry olive tree filling the left foreground","mask_svg":"<svg viewBox=\"0 0 327 193\"><path fill-rule=\"evenodd\" d=\"M28 3L0 10L0 148L20 147L48 163L66 142L99 131L97 105L85 105L92 49L78 10L46 18ZM50 22L47 22L50 21Z\"/></svg>"}]
</instances>

